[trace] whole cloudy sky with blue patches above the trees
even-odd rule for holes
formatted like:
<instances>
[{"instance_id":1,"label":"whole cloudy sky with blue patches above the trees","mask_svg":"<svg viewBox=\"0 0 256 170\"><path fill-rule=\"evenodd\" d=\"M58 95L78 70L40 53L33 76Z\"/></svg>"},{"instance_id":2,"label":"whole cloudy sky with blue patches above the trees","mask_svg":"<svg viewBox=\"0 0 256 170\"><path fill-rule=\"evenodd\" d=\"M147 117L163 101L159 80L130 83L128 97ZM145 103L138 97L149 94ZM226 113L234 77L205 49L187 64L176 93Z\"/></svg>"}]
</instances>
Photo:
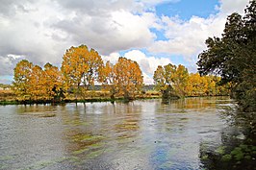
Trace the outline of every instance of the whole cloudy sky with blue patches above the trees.
<instances>
[{"instance_id":1,"label":"whole cloudy sky with blue patches above the trees","mask_svg":"<svg viewBox=\"0 0 256 170\"><path fill-rule=\"evenodd\" d=\"M66 49L87 45L104 61L137 61L145 84L158 65L196 72L209 36L221 36L226 17L249 0L0 0L0 84L28 60L61 67Z\"/></svg>"}]
</instances>

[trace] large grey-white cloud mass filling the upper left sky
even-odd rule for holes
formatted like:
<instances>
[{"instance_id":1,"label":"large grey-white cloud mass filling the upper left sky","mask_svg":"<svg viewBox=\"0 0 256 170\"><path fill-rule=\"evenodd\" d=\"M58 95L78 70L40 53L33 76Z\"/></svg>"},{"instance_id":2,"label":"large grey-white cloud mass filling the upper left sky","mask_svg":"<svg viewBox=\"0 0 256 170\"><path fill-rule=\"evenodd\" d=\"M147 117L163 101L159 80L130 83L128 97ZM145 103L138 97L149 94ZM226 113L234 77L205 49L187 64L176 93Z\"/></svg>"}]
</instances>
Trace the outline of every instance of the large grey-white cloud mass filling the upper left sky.
<instances>
[{"instance_id":1,"label":"large grey-white cloud mass filling the upper left sky","mask_svg":"<svg viewBox=\"0 0 256 170\"><path fill-rule=\"evenodd\" d=\"M61 65L70 46L86 44L101 55L153 42L157 16L133 0L10 0L0 7L0 56L22 55L35 64ZM12 66L1 68L13 72ZM3 75L0 72L0 75Z\"/></svg>"}]
</instances>

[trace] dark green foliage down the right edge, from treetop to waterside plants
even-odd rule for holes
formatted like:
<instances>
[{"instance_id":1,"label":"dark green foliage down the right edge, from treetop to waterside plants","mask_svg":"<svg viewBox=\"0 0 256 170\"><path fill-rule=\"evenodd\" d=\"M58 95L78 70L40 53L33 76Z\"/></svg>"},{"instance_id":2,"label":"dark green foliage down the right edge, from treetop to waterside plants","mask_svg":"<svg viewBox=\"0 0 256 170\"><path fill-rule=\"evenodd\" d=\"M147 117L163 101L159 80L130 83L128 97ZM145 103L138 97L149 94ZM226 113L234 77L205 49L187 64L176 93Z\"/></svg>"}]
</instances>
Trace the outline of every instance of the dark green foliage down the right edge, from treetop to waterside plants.
<instances>
[{"instance_id":1,"label":"dark green foliage down the right edge, from treetop to waterside plants","mask_svg":"<svg viewBox=\"0 0 256 170\"><path fill-rule=\"evenodd\" d=\"M207 48L198 56L201 76L216 74L220 84L231 84L230 96L238 108L226 109L227 123L237 128L221 137L217 151L202 148L202 163L209 169L255 169L256 167L256 1L249 1L244 14L227 17L221 36L208 37ZM230 109L230 110L228 110ZM234 137L241 132L243 137Z\"/></svg>"}]
</instances>

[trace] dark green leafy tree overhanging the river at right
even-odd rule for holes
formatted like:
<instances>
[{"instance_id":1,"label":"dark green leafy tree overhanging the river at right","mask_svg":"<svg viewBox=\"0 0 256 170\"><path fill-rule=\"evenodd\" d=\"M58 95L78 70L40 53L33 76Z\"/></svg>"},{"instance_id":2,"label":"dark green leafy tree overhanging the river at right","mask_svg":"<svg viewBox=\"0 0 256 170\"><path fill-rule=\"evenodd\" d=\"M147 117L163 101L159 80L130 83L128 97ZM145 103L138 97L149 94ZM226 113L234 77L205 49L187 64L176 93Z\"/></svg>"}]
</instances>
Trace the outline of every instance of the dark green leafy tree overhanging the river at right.
<instances>
[{"instance_id":1,"label":"dark green leafy tree overhanging the river at right","mask_svg":"<svg viewBox=\"0 0 256 170\"><path fill-rule=\"evenodd\" d=\"M197 61L201 75L218 74L221 83L231 83L233 97L243 110L256 110L256 2L250 1L242 17L228 16L222 37L209 37L207 50Z\"/></svg>"}]
</instances>

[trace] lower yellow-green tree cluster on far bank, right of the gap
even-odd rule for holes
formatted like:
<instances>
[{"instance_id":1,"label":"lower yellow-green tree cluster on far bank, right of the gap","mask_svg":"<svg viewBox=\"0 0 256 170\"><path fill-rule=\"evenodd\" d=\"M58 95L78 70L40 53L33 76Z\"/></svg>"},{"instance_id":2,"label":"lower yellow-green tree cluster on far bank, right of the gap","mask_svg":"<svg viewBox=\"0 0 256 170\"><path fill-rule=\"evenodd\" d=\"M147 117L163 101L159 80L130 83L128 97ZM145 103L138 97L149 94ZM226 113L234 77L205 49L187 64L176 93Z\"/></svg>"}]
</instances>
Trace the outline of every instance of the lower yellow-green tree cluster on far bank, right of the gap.
<instances>
[{"instance_id":1,"label":"lower yellow-green tree cluster on far bank, right of the gap","mask_svg":"<svg viewBox=\"0 0 256 170\"><path fill-rule=\"evenodd\" d=\"M189 74L184 65L159 65L154 73L156 89L164 98L171 96L215 96L228 95L230 85L219 85L220 77Z\"/></svg>"}]
</instances>

